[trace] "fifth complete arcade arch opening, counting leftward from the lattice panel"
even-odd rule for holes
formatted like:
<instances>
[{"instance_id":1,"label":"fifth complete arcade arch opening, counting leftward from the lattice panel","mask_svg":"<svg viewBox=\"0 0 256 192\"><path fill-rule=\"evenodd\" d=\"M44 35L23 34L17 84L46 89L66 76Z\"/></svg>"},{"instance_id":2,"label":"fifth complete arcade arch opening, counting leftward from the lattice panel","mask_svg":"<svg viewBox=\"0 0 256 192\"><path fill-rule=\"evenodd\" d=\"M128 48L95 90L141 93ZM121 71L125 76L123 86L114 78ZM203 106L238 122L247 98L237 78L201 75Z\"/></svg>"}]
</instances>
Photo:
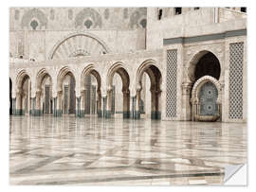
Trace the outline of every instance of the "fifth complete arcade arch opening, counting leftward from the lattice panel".
<instances>
[{"instance_id":1,"label":"fifth complete arcade arch opening, counting leftward from the lattice panel","mask_svg":"<svg viewBox=\"0 0 256 192\"><path fill-rule=\"evenodd\" d=\"M52 79L46 69L37 75L36 106L40 114L53 113Z\"/></svg>"}]
</instances>

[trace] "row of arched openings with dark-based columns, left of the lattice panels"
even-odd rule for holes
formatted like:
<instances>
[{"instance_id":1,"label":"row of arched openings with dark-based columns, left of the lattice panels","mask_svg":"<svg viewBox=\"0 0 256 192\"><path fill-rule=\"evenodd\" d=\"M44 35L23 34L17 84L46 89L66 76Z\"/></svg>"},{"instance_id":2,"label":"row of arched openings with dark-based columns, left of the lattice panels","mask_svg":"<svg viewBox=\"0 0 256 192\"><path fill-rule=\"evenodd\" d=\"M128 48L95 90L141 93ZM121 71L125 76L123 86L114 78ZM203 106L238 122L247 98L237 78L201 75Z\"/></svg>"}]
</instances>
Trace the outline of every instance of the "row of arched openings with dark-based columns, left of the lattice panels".
<instances>
[{"instance_id":1,"label":"row of arched openings with dark-based columns, left of the lattice panels","mask_svg":"<svg viewBox=\"0 0 256 192\"><path fill-rule=\"evenodd\" d=\"M75 115L79 117L97 115L99 117L152 118L160 119L161 72L154 62L143 63L137 72L137 93L130 94L130 75L122 63L114 64L107 73L107 94L101 96L102 77L91 64L86 66L77 79L69 67L58 72L57 86L43 68L36 75L36 93L31 97L31 80L23 70L16 81L16 97L11 91L9 79L10 114L24 115ZM32 82L33 83L33 82ZM80 96L77 96L80 83ZM57 92L57 96L53 93ZM12 96L12 98L11 98Z\"/></svg>"}]
</instances>

